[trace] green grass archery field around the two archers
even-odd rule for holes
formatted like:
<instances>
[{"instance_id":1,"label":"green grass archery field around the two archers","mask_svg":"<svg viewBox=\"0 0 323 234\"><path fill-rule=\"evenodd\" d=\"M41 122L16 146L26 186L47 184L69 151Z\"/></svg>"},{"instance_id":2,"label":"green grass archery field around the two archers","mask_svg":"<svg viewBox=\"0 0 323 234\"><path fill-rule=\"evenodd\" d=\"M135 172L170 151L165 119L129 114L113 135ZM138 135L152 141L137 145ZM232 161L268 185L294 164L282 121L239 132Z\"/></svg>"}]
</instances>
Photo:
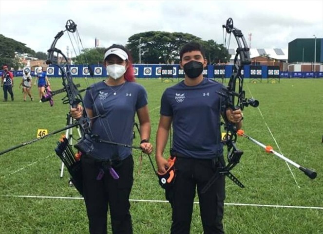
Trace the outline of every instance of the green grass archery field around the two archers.
<instances>
[{"instance_id":1,"label":"green grass archery field around the two archers","mask_svg":"<svg viewBox=\"0 0 323 234\"><path fill-rule=\"evenodd\" d=\"M96 81L89 79L90 84ZM75 82L85 87L84 79ZM154 144L160 97L174 83L146 79L138 79L138 83L148 91ZM38 128L52 132L66 125L68 105L61 102L64 94L56 95L55 105L50 107L49 103L38 103L33 88L35 101L23 102L17 84L14 102L2 102L0 90L0 151L36 138ZM58 78L52 78L51 84L52 90L62 88ZM283 160L239 138L237 144L244 155L231 172L246 188L227 180L226 234L323 234L323 79L282 79L280 84L247 81L244 88L248 97L260 102L259 109L248 107L244 111L246 134L279 152L268 126L282 153L315 169L318 177L310 180L293 166L290 171ZM66 170L60 178L61 162L54 152L59 136L0 156L0 234L88 233L84 201L68 185ZM134 144L138 145L138 138ZM144 156L140 166L140 152L133 150L133 155L134 234L168 234L170 204L165 202L148 157ZM202 233L196 204L191 234Z\"/></svg>"}]
</instances>

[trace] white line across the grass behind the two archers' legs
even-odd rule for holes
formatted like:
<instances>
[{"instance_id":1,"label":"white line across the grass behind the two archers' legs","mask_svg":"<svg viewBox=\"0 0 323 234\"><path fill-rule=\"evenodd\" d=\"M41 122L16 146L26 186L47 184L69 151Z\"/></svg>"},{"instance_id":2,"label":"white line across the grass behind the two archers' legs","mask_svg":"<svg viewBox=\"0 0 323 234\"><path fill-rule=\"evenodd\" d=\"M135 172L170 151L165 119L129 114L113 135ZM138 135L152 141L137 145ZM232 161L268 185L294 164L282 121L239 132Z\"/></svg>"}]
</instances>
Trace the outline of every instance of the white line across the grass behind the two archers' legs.
<instances>
[{"instance_id":1,"label":"white line across the grass behind the two archers' legs","mask_svg":"<svg viewBox=\"0 0 323 234\"><path fill-rule=\"evenodd\" d=\"M36 198L36 199L72 199L72 200L83 200L80 197L51 197L51 196L29 196L29 195L0 195L0 197L9 198ZM133 202L153 202L153 203L168 203L167 200L145 200L145 199L129 199ZM194 204L198 204L195 201ZM323 207L313 207L313 206L286 206L286 205L266 205L266 204L246 204L246 203L224 203L228 206L254 206L254 207L271 207L271 208L294 208L294 209L313 209L313 210L323 210Z\"/></svg>"}]
</instances>

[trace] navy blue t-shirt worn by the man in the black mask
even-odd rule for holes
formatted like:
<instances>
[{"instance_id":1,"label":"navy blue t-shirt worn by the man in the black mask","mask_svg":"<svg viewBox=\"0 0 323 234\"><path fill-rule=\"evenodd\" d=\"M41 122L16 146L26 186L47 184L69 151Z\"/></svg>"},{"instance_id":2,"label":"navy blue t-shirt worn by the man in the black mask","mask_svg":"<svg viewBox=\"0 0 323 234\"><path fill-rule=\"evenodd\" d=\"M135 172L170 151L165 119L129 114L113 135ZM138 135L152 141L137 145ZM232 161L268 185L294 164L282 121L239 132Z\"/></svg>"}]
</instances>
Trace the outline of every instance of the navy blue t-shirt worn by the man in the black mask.
<instances>
[{"instance_id":1,"label":"navy blue t-shirt worn by the man in the black mask","mask_svg":"<svg viewBox=\"0 0 323 234\"><path fill-rule=\"evenodd\" d=\"M184 81L167 88L160 114L172 117L172 149L190 158L211 159L222 155L220 107L216 91L222 84L205 78L197 86Z\"/></svg>"}]
</instances>

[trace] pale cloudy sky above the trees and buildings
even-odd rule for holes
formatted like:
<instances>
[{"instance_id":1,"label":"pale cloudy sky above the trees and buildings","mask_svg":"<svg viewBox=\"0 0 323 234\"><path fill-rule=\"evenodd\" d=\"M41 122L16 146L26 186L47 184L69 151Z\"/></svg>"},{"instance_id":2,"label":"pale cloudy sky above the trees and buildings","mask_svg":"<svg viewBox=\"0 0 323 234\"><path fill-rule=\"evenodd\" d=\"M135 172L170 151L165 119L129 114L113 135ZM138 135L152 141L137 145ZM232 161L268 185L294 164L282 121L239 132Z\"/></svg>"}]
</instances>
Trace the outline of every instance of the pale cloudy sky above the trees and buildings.
<instances>
[{"instance_id":1,"label":"pale cloudy sky above the trees and buildings","mask_svg":"<svg viewBox=\"0 0 323 234\"><path fill-rule=\"evenodd\" d=\"M126 44L146 31L183 32L223 43L231 17L252 48L288 48L295 38L323 37L323 0L0 0L0 34L46 52L68 19L83 46ZM64 35L57 48L70 46ZM230 48L236 43L231 39Z\"/></svg>"}]
</instances>

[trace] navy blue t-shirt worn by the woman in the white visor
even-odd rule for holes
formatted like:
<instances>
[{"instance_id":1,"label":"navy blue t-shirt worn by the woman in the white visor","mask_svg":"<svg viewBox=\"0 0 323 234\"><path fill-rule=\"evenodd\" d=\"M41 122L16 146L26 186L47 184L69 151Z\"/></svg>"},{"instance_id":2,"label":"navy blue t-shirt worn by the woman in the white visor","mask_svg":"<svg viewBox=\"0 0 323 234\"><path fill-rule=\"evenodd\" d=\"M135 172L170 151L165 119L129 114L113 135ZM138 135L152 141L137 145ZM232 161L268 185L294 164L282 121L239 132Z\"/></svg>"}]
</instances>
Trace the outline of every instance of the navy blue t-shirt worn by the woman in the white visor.
<instances>
[{"instance_id":1,"label":"navy blue t-shirt worn by the woman in the white visor","mask_svg":"<svg viewBox=\"0 0 323 234\"><path fill-rule=\"evenodd\" d=\"M98 134L101 140L131 145L134 115L137 109L148 104L147 92L135 82L111 88L104 82L98 82L86 91L83 100L85 108L92 109L94 116L103 116L93 120L92 132ZM131 153L129 147L104 143L94 143L92 152L95 158L104 160L123 160Z\"/></svg>"}]
</instances>

